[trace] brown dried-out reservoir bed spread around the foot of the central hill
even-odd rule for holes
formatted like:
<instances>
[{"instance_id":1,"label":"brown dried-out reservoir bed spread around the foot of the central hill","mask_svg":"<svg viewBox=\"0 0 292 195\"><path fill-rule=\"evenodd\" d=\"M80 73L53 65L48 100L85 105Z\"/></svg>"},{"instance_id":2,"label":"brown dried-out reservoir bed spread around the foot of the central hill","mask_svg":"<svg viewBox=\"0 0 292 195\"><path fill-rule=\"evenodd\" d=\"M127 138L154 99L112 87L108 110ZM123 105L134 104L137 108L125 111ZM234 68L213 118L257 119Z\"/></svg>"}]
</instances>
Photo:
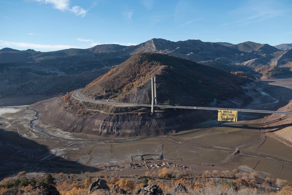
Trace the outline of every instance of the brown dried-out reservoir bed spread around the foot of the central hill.
<instances>
[{"instance_id":1,"label":"brown dried-out reservoir bed spread around the foot of the central hill","mask_svg":"<svg viewBox=\"0 0 292 195\"><path fill-rule=\"evenodd\" d=\"M283 86L285 81L281 80L281 83ZM289 80L286 83L290 83ZM276 81L272 84L279 83ZM286 102L290 101L292 87L278 89L274 86L267 84L261 88L262 96L254 97L254 101L246 107L268 110L275 108L277 104L285 106ZM275 88L273 93L266 90L272 87ZM283 93L285 97L281 96ZM104 166L116 164L124 167L119 170L119 175L142 174L149 170L157 172L156 168L133 169L128 167L128 163L132 161L132 156L163 154L161 161L185 165L197 172L237 168L246 172L253 170L261 176L277 178L284 164L279 178L291 182L292 148L280 143L281 139L277 141L270 138L276 134L263 131L263 127L269 130L274 129L278 124L278 121L263 122L267 117L254 115L253 118L256 119L246 120L251 117L244 113L239 116L241 121L223 123L218 127L199 128L157 137L104 138L68 133L43 124L38 120L36 110L29 106L0 107L2 129L0 147L1 151L4 151L4 155L1 156L0 176L22 170L67 173L97 170L111 175L112 171L106 171ZM204 125L212 126L214 121L212 122ZM267 138L265 135L270 137ZM237 149L240 153L234 155ZM202 166L203 163L215 166Z\"/></svg>"}]
</instances>

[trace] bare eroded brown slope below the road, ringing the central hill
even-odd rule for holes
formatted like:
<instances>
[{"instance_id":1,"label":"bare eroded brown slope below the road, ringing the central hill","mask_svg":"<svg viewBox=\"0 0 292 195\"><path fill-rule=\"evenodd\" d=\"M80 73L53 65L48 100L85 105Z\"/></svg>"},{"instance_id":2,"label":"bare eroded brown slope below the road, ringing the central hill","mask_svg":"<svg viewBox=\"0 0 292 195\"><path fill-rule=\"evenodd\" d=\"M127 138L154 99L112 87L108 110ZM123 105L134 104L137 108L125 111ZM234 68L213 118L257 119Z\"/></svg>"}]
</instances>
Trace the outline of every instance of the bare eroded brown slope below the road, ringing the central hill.
<instances>
[{"instance_id":1,"label":"bare eroded brown slope below the road, ringing the central hill","mask_svg":"<svg viewBox=\"0 0 292 195\"><path fill-rule=\"evenodd\" d=\"M68 132L100 136L150 136L185 130L196 121L194 114L185 111L150 112L138 114L94 113L79 117L75 111L64 111L61 101L54 100L36 105L41 121ZM201 111L204 112L204 111ZM211 114L211 113L210 113Z\"/></svg>"}]
</instances>

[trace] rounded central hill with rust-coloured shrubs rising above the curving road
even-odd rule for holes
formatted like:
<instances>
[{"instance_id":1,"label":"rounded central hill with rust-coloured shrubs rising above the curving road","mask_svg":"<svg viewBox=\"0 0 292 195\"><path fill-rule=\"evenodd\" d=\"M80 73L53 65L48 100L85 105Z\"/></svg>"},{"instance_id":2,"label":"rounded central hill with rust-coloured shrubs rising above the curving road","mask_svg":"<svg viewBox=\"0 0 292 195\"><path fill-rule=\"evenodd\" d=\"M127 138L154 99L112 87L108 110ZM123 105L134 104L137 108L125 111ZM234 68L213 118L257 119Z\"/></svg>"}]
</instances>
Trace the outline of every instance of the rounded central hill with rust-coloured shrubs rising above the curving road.
<instances>
[{"instance_id":1,"label":"rounded central hill with rust-coloured shrubs rising above the curving road","mask_svg":"<svg viewBox=\"0 0 292 195\"><path fill-rule=\"evenodd\" d=\"M158 102L203 105L213 99L226 100L243 93L240 85L250 81L219 68L160 53L139 53L88 84L82 94L90 99L113 99L135 103L151 77L156 76ZM143 100L149 98L142 97ZM185 106L185 105L183 105Z\"/></svg>"}]
</instances>

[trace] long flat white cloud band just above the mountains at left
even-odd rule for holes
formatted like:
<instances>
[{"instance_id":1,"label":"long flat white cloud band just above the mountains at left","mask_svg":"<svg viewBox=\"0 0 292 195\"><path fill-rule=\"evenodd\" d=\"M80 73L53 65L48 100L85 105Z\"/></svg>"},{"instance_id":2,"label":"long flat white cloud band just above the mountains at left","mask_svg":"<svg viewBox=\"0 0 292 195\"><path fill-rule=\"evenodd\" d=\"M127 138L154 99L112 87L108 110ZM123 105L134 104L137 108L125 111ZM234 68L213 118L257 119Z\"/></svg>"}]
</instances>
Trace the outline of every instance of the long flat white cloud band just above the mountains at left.
<instances>
[{"instance_id":1,"label":"long flat white cloud band just above the mountains at left","mask_svg":"<svg viewBox=\"0 0 292 195\"><path fill-rule=\"evenodd\" d=\"M25 42L12 42L0 40L0 47L21 47L25 49L49 49L49 50L60 50L68 48L78 48L78 46L72 45L43 45L43 44L34 44L34 43L25 43Z\"/></svg>"}]
</instances>

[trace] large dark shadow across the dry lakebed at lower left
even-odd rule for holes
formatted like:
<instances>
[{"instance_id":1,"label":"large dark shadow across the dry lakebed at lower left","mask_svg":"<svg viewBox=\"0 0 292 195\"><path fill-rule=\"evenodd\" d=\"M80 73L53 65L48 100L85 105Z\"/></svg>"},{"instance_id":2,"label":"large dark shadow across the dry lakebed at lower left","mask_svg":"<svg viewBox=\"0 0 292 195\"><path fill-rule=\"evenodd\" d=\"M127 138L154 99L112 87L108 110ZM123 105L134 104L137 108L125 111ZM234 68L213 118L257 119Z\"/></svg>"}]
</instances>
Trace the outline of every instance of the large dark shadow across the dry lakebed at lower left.
<instances>
[{"instance_id":1,"label":"large dark shadow across the dry lakebed at lower left","mask_svg":"<svg viewBox=\"0 0 292 195\"><path fill-rule=\"evenodd\" d=\"M0 129L0 150L0 178L23 170L73 174L97 170L95 167L55 156L47 146L3 129Z\"/></svg>"}]
</instances>

